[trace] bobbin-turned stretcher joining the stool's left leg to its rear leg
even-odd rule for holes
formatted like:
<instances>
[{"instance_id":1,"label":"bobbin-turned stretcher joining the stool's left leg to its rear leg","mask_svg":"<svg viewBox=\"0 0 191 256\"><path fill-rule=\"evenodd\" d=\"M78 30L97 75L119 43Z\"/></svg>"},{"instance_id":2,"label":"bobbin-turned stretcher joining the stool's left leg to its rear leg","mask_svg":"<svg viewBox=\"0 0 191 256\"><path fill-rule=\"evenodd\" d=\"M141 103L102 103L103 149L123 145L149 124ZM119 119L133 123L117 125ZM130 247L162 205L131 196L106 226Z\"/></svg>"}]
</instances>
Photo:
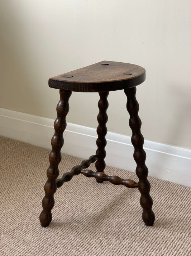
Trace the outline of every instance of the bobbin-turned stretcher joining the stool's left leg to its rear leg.
<instances>
[{"instance_id":1,"label":"bobbin-turned stretcher joining the stool's left leg to its rear leg","mask_svg":"<svg viewBox=\"0 0 191 256\"><path fill-rule=\"evenodd\" d=\"M56 180L57 188L60 188L64 182L70 181L74 175L80 174L82 169L88 168L91 163L94 163L97 160L97 155L89 157L88 160L83 160L80 165L76 165L72 168L70 172L65 172L62 178Z\"/></svg>"}]
</instances>

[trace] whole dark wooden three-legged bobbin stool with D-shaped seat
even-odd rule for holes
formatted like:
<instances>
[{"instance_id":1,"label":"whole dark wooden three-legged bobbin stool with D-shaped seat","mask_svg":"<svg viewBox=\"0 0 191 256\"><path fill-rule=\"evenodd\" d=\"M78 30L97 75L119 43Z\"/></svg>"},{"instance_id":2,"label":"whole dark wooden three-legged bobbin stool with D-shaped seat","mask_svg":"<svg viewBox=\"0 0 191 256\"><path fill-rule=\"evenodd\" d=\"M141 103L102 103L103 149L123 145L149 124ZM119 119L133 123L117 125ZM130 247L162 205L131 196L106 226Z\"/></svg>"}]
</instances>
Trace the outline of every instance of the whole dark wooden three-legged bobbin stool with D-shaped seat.
<instances>
[{"instance_id":1,"label":"whole dark wooden three-legged bobbin stool with D-shaped seat","mask_svg":"<svg viewBox=\"0 0 191 256\"><path fill-rule=\"evenodd\" d=\"M50 166L47 170L48 180L44 186L45 196L42 200L43 211L40 214L40 224L43 227L49 225L52 220L51 210L54 206L54 193L64 182L70 181L73 175L83 174L86 177L95 177L98 183L107 180L115 185L125 185L128 188L138 188L140 192L140 205L143 208L142 219L147 226L154 223L154 213L152 211L153 201L150 192L150 184L147 180L148 169L145 165L146 153L143 149L144 138L140 132L141 120L138 116L139 104L135 98L136 87L145 80L145 69L122 62L102 61L93 65L80 68L49 79L49 87L59 89L60 100L57 105L57 118L54 122L55 133L52 137L52 151L49 154ZM127 96L126 108L129 112L129 126L132 129L132 144L134 147L134 160L137 163L136 174L138 183L133 180L124 180L118 176L108 176L104 173L106 156L106 122L108 116L109 91L124 90ZM80 165L74 166L70 172L66 172L62 178L59 175L58 165L61 161L61 148L64 144L63 131L66 129L66 115L69 111L68 100L72 91L78 92L98 92L100 100L98 102L99 114L97 121L98 138L96 140L97 151L88 160L84 160ZM87 169L91 163L95 162L96 172Z\"/></svg>"}]
</instances>

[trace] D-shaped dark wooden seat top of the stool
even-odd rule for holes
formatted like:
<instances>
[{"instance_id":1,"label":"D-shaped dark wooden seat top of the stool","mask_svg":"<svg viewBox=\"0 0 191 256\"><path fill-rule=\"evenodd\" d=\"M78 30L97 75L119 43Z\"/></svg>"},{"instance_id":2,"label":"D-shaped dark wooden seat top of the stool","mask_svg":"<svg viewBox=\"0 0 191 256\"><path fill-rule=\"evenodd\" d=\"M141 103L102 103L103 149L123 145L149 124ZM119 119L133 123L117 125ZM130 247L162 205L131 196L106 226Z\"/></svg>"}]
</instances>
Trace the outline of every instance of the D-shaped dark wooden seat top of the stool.
<instances>
[{"instance_id":1,"label":"D-shaped dark wooden seat top of the stool","mask_svg":"<svg viewBox=\"0 0 191 256\"><path fill-rule=\"evenodd\" d=\"M143 67L124 62L101 61L51 77L48 85L59 90L99 92L134 87L144 80Z\"/></svg>"}]
</instances>

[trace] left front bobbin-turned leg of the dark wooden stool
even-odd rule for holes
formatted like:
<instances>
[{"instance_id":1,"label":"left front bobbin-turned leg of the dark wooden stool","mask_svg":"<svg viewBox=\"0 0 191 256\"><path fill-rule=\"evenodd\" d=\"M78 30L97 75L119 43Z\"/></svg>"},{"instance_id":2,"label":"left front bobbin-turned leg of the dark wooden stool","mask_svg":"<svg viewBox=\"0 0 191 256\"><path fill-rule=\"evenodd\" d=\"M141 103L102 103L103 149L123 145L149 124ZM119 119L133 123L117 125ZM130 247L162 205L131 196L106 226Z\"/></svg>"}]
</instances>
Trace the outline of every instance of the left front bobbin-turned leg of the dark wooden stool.
<instances>
[{"instance_id":1,"label":"left front bobbin-turned leg of the dark wooden stool","mask_svg":"<svg viewBox=\"0 0 191 256\"><path fill-rule=\"evenodd\" d=\"M54 206L54 193L57 190L56 179L59 175L58 165L61 161L61 148L64 144L63 131L66 129L66 115L69 111L68 100L71 91L60 90L60 101L58 102L56 111L57 118L54 121L54 135L51 140L52 151L49 154L50 166L47 170L47 182L44 185L45 196L42 200L43 211L40 214L40 224L43 227L48 226L52 220L51 210Z\"/></svg>"}]
</instances>

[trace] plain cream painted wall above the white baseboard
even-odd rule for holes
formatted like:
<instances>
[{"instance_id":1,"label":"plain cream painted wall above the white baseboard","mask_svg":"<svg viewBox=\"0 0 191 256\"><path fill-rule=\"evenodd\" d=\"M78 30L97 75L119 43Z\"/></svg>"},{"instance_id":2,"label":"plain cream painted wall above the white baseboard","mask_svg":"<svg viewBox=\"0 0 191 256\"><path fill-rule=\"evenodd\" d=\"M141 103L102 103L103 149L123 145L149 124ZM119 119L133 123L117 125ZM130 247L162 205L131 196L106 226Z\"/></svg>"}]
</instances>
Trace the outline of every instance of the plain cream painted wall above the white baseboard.
<instances>
[{"instance_id":1,"label":"plain cream painted wall above the white baseboard","mask_svg":"<svg viewBox=\"0 0 191 256\"><path fill-rule=\"evenodd\" d=\"M137 87L146 140L191 148L190 0L1 0L0 107L56 117L48 78L101 60L146 69ZM108 130L131 135L126 97L111 92ZM97 93L73 93L67 121L97 126Z\"/></svg>"}]
</instances>

